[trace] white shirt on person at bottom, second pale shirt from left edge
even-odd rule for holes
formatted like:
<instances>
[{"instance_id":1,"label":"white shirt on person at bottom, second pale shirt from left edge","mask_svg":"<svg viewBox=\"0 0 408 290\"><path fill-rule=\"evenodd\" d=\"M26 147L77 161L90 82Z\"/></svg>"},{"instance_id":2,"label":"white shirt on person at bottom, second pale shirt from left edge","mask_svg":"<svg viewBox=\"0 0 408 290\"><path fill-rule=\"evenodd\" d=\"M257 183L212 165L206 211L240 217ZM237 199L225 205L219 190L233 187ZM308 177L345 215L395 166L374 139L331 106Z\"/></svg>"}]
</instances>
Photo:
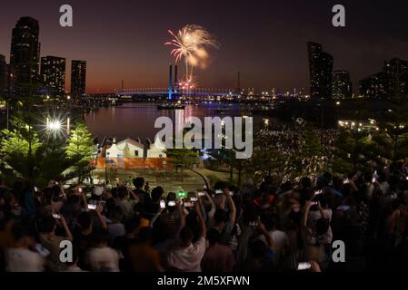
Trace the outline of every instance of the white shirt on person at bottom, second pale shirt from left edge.
<instances>
[{"instance_id":1,"label":"white shirt on person at bottom, second pale shirt from left edge","mask_svg":"<svg viewBox=\"0 0 408 290\"><path fill-rule=\"evenodd\" d=\"M89 264L94 271L109 268L111 272L119 272L119 255L110 247L93 247L88 252Z\"/></svg>"}]
</instances>

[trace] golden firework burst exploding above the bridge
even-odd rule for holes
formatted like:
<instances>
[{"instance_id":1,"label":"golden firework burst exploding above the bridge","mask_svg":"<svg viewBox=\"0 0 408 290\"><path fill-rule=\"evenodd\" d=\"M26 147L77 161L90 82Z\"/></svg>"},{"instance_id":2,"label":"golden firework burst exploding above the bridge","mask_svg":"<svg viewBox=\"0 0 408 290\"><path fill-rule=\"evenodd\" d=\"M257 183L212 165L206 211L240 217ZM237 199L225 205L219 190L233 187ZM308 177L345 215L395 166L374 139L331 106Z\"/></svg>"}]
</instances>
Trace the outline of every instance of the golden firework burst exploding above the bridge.
<instances>
[{"instance_id":1,"label":"golden firework burst exploding above the bridge","mask_svg":"<svg viewBox=\"0 0 408 290\"><path fill-rule=\"evenodd\" d=\"M208 48L219 48L217 43L208 31L199 25L186 25L179 30L178 34L168 31L173 36L171 42L165 45L174 46L171 54L175 62L184 60L185 63L185 81L192 82L194 67L205 68L208 60Z\"/></svg>"}]
</instances>

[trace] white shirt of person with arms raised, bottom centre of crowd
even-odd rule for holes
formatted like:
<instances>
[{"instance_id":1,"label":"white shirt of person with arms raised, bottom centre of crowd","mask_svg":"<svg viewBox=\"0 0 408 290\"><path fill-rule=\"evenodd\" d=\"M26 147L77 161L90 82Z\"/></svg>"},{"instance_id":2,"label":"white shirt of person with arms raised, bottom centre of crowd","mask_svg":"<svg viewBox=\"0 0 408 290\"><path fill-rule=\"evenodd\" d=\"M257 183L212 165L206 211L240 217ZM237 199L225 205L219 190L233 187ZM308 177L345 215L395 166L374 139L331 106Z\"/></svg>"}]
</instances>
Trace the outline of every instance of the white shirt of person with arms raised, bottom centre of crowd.
<instances>
[{"instance_id":1,"label":"white shirt of person with arms raised, bottom centre of crowd","mask_svg":"<svg viewBox=\"0 0 408 290\"><path fill-rule=\"evenodd\" d=\"M170 266L183 272L201 272L201 260L205 253L205 238L198 240L189 247L177 248L167 257Z\"/></svg>"}]
</instances>

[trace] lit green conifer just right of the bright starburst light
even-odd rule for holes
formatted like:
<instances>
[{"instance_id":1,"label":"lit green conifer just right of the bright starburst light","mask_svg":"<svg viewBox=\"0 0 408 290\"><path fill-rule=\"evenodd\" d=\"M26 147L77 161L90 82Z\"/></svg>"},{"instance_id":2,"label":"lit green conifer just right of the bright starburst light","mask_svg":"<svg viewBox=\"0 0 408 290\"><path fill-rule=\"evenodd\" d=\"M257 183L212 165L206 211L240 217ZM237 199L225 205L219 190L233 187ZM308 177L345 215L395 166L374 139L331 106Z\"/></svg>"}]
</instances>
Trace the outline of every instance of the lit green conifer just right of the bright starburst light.
<instances>
[{"instance_id":1,"label":"lit green conifer just right of the bright starburst light","mask_svg":"<svg viewBox=\"0 0 408 290\"><path fill-rule=\"evenodd\" d=\"M75 129L70 132L65 146L65 154L73 162L78 183L80 183L94 154L92 134L88 131L85 123L78 122Z\"/></svg>"}]
</instances>

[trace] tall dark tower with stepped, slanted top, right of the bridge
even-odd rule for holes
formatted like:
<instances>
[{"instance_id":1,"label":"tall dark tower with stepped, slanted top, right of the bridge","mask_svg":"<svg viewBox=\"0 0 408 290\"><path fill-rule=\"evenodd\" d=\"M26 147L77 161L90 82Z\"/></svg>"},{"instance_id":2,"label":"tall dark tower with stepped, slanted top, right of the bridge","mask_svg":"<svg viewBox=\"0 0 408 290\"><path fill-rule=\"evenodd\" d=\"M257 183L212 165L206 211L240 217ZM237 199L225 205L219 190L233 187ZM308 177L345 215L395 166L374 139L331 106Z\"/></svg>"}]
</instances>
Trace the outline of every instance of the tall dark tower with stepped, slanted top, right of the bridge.
<instances>
[{"instance_id":1,"label":"tall dark tower with stepped, slanted top, right of the bridge","mask_svg":"<svg viewBox=\"0 0 408 290\"><path fill-rule=\"evenodd\" d=\"M307 43L310 70L310 95L314 99L330 99L333 56L323 52L319 43Z\"/></svg>"}]
</instances>

